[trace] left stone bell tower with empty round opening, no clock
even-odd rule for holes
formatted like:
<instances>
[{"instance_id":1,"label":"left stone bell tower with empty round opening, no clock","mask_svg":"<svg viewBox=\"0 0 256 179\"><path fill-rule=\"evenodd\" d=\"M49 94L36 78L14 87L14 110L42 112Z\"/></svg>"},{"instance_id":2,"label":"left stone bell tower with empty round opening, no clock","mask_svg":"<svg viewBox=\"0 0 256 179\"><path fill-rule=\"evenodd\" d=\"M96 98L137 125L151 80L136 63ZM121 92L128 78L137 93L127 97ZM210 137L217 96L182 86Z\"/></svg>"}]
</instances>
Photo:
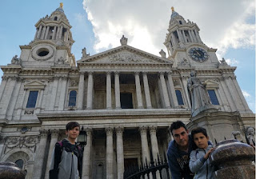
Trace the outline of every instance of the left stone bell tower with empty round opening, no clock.
<instances>
[{"instance_id":1,"label":"left stone bell tower with empty round opening, no clock","mask_svg":"<svg viewBox=\"0 0 256 179\"><path fill-rule=\"evenodd\" d=\"M50 16L40 18L35 27L34 40L28 46L20 46L22 66L75 66L72 26L62 3Z\"/></svg>"}]
</instances>

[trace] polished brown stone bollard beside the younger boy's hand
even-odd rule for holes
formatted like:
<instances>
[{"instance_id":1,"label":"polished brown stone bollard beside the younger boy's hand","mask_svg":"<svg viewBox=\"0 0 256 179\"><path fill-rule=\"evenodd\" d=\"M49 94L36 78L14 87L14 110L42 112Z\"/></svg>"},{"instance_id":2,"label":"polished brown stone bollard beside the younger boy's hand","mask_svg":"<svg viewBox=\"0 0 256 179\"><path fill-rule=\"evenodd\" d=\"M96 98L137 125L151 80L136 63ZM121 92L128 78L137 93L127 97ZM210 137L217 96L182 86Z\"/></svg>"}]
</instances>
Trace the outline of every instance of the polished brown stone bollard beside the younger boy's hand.
<instances>
[{"instance_id":1,"label":"polished brown stone bollard beside the younger boy's hand","mask_svg":"<svg viewBox=\"0 0 256 179\"><path fill-rule=\"evenodd\" d=\"M217 179L254 179L254 148L230 139L221 141L210 154L210 163L215 165Z\"/></svg>"}]
</instances>

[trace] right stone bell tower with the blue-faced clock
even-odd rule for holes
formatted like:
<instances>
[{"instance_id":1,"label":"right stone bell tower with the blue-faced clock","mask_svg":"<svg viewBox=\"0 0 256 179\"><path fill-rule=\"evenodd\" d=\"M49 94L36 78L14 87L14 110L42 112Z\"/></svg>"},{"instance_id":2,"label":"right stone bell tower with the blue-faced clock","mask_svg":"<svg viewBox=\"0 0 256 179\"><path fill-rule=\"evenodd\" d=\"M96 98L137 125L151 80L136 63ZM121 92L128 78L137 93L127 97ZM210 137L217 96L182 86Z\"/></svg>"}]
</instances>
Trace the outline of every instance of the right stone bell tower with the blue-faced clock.
<instances>
[{"instance_id":1,"label":"right stone bell tower with the blue-faced clock","mask_svg":"<svg viewBox=\"0 0 256 179\"><path fill-rule=\"evenodd\" d=\"M179 15L174 7L171 7L172 14L168 33L164 45L169 54L169 59L174 60L174 66L215 66L218 58L216 49L206 46L199 34L199 27L196 23L187 21Z\"/></svg>"}]
</instances>

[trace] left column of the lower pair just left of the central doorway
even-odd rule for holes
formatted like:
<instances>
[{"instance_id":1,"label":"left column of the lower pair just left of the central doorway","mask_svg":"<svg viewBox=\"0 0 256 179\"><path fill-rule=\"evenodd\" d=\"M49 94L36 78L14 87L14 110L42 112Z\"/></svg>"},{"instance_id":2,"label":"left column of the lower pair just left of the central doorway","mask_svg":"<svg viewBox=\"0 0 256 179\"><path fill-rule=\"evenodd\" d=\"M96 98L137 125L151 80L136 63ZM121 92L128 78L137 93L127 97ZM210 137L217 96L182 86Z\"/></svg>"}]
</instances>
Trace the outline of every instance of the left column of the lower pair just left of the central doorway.
<instances>
[{"instance_id":1,"label":"left column of the lower pair just left of the central doorway","mask_svg":"<svg viewBox=\"0 0 256 179\"><path fill-rule=\"evenodd\" d=\"M113 128L106 128L106 179L113 179Z\"/></svg>"}]
</instances>

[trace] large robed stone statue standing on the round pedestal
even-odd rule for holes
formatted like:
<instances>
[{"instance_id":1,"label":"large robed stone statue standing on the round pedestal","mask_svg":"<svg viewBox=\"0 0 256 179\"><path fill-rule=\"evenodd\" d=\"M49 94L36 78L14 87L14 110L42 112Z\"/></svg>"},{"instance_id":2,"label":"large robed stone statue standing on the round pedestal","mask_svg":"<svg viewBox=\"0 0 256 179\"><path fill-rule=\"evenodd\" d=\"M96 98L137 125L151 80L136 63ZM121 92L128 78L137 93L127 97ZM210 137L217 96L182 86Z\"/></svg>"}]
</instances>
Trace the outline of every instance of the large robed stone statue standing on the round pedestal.
<instances>
[{"instance_id":1,"label":"large robed stone statue standing on the round pedestal","mask_svg":"<svg viewBox=\"0 0 256 179\"><path fill-rule=\"evenodd\" d=\"M208 96L206 85L202 84L199 78L196 77L196 73L192 71L190 73L190 78L187 82L187 89L190 93L191 101L191 114L194 117L197 113L205 108L205 105L210 105L210 97ZM202 108L202 110L200 109ZM194 113L197 111L197 113Z\"/></svg>"}]
</instances>

